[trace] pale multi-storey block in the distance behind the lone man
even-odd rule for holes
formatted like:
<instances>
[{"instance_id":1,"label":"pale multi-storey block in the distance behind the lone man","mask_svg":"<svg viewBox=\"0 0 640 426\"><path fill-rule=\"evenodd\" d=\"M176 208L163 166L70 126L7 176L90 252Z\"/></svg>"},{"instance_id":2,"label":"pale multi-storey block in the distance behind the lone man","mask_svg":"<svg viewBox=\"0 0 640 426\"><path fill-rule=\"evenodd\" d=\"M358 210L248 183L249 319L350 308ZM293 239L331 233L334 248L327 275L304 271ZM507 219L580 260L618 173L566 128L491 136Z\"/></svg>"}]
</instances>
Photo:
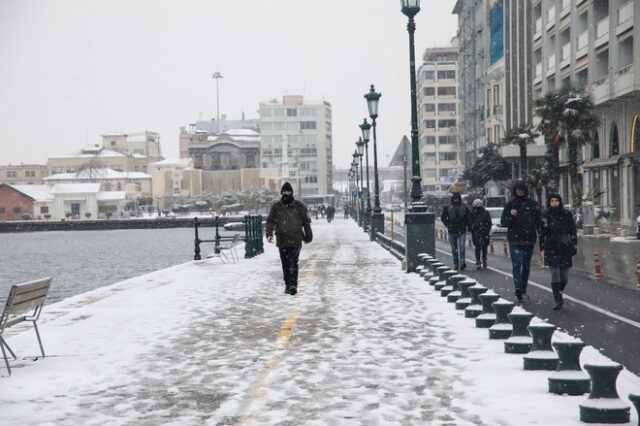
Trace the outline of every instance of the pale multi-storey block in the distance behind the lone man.
<instances>
[{"instance_id":1,"label":"pale multi-storey block in the distance behind the lone man","mask_svg":"<svg viewBox=\"0 0 640 426\"><path fill-rule=\"evenodd\" d=\"M262 168L281 168L302 194L327 194L332 188L331 104L284 96L260 104ZM301 195L302 195L301 194Z\"/></svg>"}]
</instances>

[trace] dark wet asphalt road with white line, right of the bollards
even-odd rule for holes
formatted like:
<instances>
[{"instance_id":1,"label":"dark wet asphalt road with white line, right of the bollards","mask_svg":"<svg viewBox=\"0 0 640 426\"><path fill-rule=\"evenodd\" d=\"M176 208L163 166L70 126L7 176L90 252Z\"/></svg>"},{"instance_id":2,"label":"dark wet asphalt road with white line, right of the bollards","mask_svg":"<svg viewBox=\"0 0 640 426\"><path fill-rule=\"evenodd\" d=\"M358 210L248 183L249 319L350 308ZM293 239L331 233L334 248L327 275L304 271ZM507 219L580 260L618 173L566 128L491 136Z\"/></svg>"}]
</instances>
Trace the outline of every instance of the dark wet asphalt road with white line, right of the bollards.
<instances>
[{"instance_id":1,"label":"dark wet asphalt road with white line, right of the bollards","mask_svg":"<svg viewBox=\"0 0 640 426\"><path fill-rule=\"evenodd\" d=\"M389 229L387 230L389 231ZM404 229L394 225L394 239L404 241ZM464 273L493 289L505 299L515 301L511 260L502 256L502 241L495 244L495 255L489 255L486 270L476 270L474 249L467 247L467 269ZM436 256L451 263L448 241L436 240ZM565 303L553 311L553 296L548 268L541 268L534 255L531 275L523 307L559 329L581 338L599 349L629 371L640 374L640 291L598 282L571 272L565 289Z\"/></svg>"}]
</instances>

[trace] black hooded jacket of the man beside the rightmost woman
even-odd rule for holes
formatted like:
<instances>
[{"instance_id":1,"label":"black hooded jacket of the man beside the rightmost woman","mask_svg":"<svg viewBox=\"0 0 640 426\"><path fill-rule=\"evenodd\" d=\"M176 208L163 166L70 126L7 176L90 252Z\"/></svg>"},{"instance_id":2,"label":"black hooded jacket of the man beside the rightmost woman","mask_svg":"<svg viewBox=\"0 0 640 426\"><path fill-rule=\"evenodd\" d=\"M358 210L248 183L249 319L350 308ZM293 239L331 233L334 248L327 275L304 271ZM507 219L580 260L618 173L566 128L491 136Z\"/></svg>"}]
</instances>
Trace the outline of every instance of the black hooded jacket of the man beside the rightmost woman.
<instances>
[{"instance_id":1,"label":"black hooded jacket of the man beside the rightmost woman","mask_svg":"<svg viewBox=\"0 0 640 426\"><path fill-rule=\"evenodd\" d=\"M524 188L522 197L516 195L518 188ZM511 215L511 210L516 210L515 217ZM529 246L536 244L538 233L542 229L540 208L538 203L529 198L529 191L522 181L514 185L513 198L502 210L500 225L507 228L507 240L510 243Z\"/></svg>"}]
</instances>

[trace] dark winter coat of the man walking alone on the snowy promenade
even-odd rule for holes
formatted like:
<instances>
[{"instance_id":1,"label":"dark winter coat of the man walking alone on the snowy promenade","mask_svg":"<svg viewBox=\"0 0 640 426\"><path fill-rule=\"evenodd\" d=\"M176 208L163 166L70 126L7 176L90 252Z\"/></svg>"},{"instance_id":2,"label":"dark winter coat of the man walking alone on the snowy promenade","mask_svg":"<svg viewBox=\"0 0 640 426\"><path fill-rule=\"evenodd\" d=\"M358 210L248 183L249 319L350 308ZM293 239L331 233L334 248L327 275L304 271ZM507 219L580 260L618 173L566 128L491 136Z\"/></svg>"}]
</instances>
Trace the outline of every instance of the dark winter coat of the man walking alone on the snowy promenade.
<instances>
[{"instance_id":1,"label":"dark winter coat of the man walking alone on the snowy promenade","mask_svg":"<svg viewBox=\"0 0 640 426\"><path fill-rule=\"evenodd\" d=\"M267 237L276 235L278 247L301 247L313 239L307 207L298 200L275 203L267 217Z\"/></svg>"}]
</instances>

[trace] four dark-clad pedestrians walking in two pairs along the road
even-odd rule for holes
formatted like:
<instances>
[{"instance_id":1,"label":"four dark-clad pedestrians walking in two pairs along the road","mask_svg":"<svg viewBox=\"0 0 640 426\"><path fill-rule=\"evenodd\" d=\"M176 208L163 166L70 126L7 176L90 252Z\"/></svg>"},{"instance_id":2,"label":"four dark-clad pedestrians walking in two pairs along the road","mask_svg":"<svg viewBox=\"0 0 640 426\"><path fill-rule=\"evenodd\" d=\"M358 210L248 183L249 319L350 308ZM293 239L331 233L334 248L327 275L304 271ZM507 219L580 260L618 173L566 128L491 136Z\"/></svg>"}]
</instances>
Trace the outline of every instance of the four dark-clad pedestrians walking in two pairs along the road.
<instances>
[{"instance_id":1,"label":"four dark-clad pedestrians walking in two pairs along the road","mask_svg":"<svg viewBox=\"0 0 640 426\"><path fill-rule=\"evenodd\" d=\"M454 193L451 204L443 209L440 218L449 233L454 268L462 271L467 266L465 239L469 231L475 246L476 267L486 269L492 223L482 201L474 200L472 209L469 209L461 195ZM577 253L578 237L573 215L564 208L560 194L549 194L543 212L538 203L529 198L525 182L517 180L513 185L513 197L502 211L500 224L507 228L517 302L522 303L528 298L531 258L536 241L539 241L544 263L551 271L553 309L561 309L569 269L573 266L572 258Z\"/></svg>"}]
</instances>

